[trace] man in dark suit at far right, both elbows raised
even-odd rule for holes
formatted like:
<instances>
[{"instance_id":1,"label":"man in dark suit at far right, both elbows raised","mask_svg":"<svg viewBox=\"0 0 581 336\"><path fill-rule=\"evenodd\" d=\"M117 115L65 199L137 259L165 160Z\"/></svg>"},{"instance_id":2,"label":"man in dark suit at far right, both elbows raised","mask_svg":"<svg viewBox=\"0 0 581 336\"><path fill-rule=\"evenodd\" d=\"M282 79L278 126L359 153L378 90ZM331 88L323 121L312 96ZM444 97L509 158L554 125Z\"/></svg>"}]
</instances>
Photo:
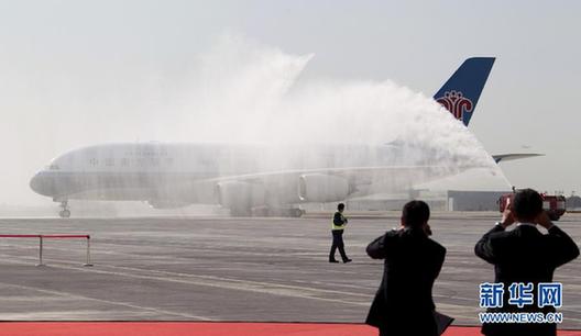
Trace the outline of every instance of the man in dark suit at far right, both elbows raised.
<instances>
[{"instance_id":1,"label":"man in dark suit at far right, both elbows raised","mask_svg":"<svg viewBox=\"0 0 581 336\"><path fill-rule=\"evenodd\" d=\"M506 227L516 223L512 231ZM544 235L537 225L545 227ZM505 212L502 222L489 231L474 247L475 254L494 265L496 283L504 283L502 307L489 312L555 312L555 307L537 305L538 283L552 282L555 269L579 256L574 242L551 223L542 210L542 198L533 189L518 191ZM509 285L516 282L533 283L535 304L518 307L509 304ZM555 336L556 324L485 323L482 333L487 336Z\"/></svg>"}]
</instances>

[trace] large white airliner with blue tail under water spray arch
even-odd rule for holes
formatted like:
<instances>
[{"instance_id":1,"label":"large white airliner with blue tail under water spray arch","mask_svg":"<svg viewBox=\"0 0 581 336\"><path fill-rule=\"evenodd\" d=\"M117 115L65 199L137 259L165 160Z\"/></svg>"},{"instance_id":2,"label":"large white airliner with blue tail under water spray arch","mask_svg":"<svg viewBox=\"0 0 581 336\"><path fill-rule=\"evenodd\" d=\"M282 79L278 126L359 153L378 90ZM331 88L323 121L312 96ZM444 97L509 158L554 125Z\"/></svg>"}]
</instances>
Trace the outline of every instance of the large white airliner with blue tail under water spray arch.
<instances>
[{"instance_id":1,"label":"large white airliner with blue tail under water spray arch","mask_svg":"<svg viewBox=\"0 0 581 336\"><path fill-rule=\"evenodd\" d=\"M493 63L492 57L467 59L434 99L468 126ZM414 149L113 143L56 157L31 179L30 187L59 202L61 217L70 216L69 200L144 201L155 209L219 204L232 215L262 209L265 214L300 216L304 212L297 204L369 195L376 192L377 181L397 190L410 188L409 180L423 182L467 169L398 163L403 150ZM515 156L495 160L511 158Z\"/></svg>"}]
</instances>

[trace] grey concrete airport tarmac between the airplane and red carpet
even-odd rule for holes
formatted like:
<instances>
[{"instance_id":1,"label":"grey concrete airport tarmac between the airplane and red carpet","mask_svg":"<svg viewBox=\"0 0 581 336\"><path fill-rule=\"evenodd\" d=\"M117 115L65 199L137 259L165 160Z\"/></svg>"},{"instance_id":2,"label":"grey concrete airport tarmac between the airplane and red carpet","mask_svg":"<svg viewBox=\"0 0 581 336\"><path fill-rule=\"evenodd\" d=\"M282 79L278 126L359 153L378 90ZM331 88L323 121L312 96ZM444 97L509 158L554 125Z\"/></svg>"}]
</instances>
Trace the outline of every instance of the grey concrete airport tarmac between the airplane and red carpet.
<instances>
[{"instance_id":1,"label":"grey concrete airport tarmac between the airplane and red carpet","mask_svg":"<svg viewBox=\"0 0 581 336\"><path fill-rule=\"evenodd\" d=\"M349 214L348 214L349 215ZM435 284L438 310L454 325L478 325L479 284L492 266L473 255L496 213L438 213L434 238L448 249ZM396 226L398 214L352 217L353 262L328 264L330 219L12 219L0 234L89 234L85 239L0 238L2 321L364 321L382 262L365 246ZM558 223L581 242L581 216ZM581 329L581 260L556 272L564 322Z\"/></svg>"}]
</instances>

